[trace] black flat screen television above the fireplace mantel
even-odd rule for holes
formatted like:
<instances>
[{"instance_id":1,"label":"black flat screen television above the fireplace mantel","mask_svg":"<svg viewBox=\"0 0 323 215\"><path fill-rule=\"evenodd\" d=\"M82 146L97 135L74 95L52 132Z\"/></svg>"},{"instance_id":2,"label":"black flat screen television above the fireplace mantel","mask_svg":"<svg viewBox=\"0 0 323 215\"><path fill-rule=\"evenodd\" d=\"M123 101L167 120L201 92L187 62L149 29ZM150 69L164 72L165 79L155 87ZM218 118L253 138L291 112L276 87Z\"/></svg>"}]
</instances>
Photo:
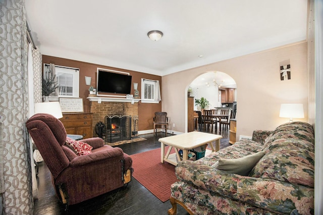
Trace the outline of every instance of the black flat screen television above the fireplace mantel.
<instances>
[{"instance_id":1,"label":"black flat screen television above the fireplace mantel","mask_svg":"<svg viewBox=\"0 0 323 215\"><path fill-rule=\"evenodd\" d=\"M129 75L98 70L96 90L98 93L130 94L131 78Z\"/></svg>"}]
</instances>

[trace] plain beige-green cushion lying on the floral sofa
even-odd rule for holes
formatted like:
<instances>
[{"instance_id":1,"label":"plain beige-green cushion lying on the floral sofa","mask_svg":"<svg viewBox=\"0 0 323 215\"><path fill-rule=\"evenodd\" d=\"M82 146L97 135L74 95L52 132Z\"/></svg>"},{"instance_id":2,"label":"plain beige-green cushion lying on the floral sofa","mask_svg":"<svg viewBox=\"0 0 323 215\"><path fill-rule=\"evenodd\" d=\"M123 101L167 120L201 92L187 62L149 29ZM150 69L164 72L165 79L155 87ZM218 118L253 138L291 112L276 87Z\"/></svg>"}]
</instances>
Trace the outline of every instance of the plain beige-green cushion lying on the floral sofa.
<instances>
[{"instance_id":1,"label":"plain beige-green cushion lying on the floral sofa","mask_svg":"<svg viewBox=\"0 0 323 215\"><path fill-rule=\"evenodd\" d=\"M242 158L219 159L212 167L225 170L227 173L247 176L265 152L257 152Z\"/></svg>"}]
</instances>

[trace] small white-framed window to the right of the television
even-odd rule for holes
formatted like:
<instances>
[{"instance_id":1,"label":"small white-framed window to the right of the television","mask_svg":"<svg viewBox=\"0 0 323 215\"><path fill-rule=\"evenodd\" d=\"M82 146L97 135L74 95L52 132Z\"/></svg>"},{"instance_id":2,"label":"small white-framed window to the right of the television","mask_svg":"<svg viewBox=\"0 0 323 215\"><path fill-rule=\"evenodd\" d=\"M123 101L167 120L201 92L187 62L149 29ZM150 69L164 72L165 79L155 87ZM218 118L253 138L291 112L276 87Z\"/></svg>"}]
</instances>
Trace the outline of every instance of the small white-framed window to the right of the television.
<instances>
[{"instance_id":1,"label":"small white-framed window to the right of the television","mask_svg":"<svg viewBox=\"0 0 323 215\"><path fill-rule=\"evenodd\" d=\"M159 81L141 79L141 102L159 103Z\"/></svg>"}]
</instances>

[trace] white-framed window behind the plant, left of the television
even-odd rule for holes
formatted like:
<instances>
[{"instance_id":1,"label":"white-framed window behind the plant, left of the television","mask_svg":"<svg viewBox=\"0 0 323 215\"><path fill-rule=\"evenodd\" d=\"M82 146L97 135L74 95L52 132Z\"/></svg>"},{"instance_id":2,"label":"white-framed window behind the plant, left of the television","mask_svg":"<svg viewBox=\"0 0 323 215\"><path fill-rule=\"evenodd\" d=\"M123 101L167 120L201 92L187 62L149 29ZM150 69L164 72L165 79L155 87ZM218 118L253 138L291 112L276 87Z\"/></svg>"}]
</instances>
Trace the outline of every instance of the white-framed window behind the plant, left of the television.
<instances>
[{"instance_id":1,"label":"white-framed window behind the plant, left of the television","mask_svg":"<svg viewBox=\"0 0 323 215\"><path fill-rule=\"evenodd\" d=\"M44 64L44 74L49 71L49 64ZM55 65L56 79L58 82L58 95L52 96L78 98L80 69Z\"/></svg>"}]
</instances>

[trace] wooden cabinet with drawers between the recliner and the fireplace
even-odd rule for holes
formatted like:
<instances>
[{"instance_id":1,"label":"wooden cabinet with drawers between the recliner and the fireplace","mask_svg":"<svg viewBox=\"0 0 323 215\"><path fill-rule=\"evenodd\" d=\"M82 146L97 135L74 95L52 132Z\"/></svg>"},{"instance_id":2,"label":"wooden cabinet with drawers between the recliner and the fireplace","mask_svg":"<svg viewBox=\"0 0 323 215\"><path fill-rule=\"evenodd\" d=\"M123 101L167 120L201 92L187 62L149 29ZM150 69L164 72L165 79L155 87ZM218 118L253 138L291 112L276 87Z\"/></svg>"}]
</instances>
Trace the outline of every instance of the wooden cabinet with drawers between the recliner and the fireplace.
<instances>
[{"instance_id":1,"label":"wooden cabinet with drawers between the recliner and the fireplace","mask_svg":"<svg viewBox=\"0 0 323 215\"><path fill-rule=\"evenodd\" d=\"M63 113L61 122L66 133L83 135L83 138L93 137L92 113Z\"/></svg>"}]
</instances>

